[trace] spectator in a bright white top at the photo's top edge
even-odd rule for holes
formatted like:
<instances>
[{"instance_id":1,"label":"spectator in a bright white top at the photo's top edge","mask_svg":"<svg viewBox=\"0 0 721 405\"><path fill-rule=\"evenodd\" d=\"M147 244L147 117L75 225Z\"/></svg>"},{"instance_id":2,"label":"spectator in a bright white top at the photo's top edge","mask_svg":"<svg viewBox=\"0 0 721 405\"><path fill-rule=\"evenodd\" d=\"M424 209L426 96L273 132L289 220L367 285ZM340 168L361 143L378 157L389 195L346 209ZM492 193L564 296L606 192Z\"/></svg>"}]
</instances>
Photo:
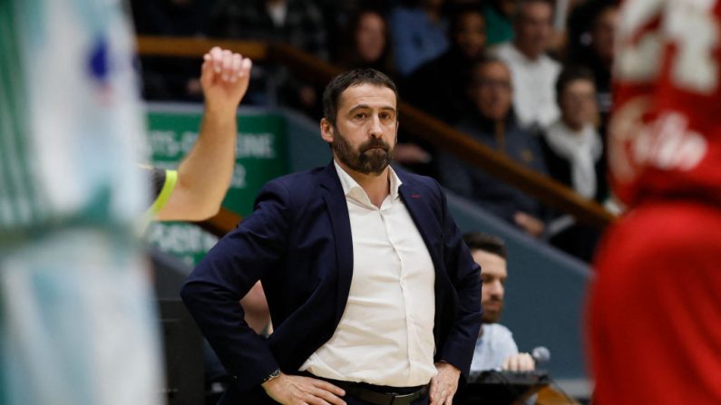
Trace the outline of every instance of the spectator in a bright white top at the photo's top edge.
<instances>
[{"instance_id":1,"label":"spectator in a bright white top at the photo's top edge","mask_svg":"<svg viewBox=\"0 0 721 405\"><path fill-rule=\"evenodd\" d=\"M521 0L513 18L515 38L494 50L511 68L513 107L524 128L545 128L559 116L554 85L560 64L546 54L552 17L549 0Z\"/></svg>"}]
</instances>

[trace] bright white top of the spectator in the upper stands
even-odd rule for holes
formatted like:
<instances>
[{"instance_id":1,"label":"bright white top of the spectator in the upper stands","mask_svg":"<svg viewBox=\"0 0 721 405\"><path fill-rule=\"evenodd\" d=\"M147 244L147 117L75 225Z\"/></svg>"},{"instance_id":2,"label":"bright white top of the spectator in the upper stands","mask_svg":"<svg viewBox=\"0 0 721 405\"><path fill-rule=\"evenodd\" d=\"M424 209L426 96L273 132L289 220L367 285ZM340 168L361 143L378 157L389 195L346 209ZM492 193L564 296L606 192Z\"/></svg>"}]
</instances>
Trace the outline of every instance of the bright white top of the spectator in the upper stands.
<instances>
[{"instance_id":1,"label":"bright white top of the spectator in the upper stands","mask_svg":"<svg viewBox=\"0 0 721 405\"><path fill-rule=\"evenodd\" d=\"M559 118L556 104L556 80L560 64L541 55L527 58L513 43L502 43L494 53L508 64L513 84L513 108L522 127L538 124L547 128Z\"/></svg>"}]
</instances>

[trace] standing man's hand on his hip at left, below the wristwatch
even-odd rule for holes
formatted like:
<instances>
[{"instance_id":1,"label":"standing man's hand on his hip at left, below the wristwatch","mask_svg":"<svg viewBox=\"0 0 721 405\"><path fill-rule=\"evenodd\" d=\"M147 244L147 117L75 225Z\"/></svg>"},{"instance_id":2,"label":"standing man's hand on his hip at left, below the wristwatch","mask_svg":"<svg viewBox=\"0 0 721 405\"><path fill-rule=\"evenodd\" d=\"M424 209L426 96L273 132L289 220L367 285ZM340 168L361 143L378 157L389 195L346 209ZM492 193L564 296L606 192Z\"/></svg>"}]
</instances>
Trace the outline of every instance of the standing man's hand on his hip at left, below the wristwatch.
<instances>
[{"instance_id":1,"label":"standing man's hand on his hip at left, below the wristwatch","mask_svg":"<svg viewBox=\"0 0 721 405\"><path fill-rule=\"evenodd\" d=\"M283 405L346 405L340 397L346 392L330 382L280 373L261 384L268 397Z\"/></svg>"}]
</instances>

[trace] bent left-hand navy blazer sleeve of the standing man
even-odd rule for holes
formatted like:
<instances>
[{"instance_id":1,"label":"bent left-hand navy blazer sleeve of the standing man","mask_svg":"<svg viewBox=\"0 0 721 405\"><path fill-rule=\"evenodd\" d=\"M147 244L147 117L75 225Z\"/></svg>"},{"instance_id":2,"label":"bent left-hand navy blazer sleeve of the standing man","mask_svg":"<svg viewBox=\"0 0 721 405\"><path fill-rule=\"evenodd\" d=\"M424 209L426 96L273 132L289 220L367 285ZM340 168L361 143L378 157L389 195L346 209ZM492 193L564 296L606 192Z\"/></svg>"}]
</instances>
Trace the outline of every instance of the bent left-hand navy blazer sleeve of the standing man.
<instances>
[{"instance_id":1,"label":"bent left-hand navy blazer sleeve of the standing man","mask_svg":"<svg viewBox=\"0 0 721 405\"><path fill-rule=\"evenodd\" d=\"M278 181L258 194L254 212L193 270L180 296L241 391L260 384L278 362L244 321L240 298L281 265L289 229L287 190Z\"/></svg>"}]
</instances>

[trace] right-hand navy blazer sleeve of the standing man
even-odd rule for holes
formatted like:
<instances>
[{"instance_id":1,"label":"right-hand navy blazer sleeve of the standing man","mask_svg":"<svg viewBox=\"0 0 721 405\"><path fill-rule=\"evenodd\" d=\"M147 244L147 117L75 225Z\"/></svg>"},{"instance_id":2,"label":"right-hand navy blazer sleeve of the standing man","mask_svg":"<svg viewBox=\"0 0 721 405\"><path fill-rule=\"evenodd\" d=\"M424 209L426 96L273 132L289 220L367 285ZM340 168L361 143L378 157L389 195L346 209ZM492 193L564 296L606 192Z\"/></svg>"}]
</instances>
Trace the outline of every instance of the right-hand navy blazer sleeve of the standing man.
<instances>
[{"instance_id":1,"label":"right-hand navy blazer sleeve of the standing man","mask_svg":"<svg viewBox=\"0 0 721 405\"><path fill-rule=\"evenodd\" d=\"M455 323L439 350L439 358L468 376L481 329L481 267L473 261L463 242L461 231L448 211L443 190L440 187L438 190L443 215L443 261L458 298Z\"/></svg>"}]
</instances>

